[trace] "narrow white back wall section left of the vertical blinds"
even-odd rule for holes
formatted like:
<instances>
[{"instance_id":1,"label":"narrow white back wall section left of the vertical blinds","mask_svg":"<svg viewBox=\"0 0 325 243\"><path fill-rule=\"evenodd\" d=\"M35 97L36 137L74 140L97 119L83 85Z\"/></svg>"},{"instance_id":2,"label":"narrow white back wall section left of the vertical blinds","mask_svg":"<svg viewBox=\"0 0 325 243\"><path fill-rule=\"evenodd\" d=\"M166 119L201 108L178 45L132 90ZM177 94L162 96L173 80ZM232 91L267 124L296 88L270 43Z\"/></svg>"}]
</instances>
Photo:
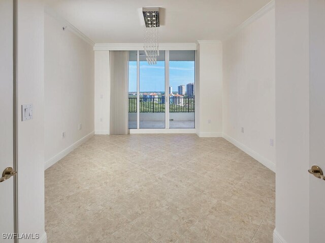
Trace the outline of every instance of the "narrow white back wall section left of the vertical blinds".
<instances>
[{"instance_id":1,"label":"narrow white back wall section left of the vertical blinds","mask_svg":"<svg viewBox=\"0 0 325 243\"><path fill-rule=\"evenodd\" d=\"M109 51L95 51L95 134L110 134L109 67Z\"/></svg>"}]
</instances>

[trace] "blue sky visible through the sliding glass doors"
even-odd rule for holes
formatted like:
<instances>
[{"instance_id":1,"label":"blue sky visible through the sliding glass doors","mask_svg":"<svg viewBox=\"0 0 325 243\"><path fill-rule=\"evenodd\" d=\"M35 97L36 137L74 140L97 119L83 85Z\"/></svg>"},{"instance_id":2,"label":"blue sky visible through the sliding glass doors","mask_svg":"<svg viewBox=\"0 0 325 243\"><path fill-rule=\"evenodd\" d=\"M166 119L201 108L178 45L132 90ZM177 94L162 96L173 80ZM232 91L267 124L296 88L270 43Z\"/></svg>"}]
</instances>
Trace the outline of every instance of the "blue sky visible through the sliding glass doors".
<instances>
[{"instance_id":1,"label":"blue sky visible through the sliding glass doors","mask_svg":"<svg viewBox=\"0 0 325 243\"><path fill-rule=\"evenodd\" d=\"M169 83L174 92L179 85L194 83L194 61L170 61L169 67ZM137 62L129 62L128 91L137 91ZM165 91L165 62L157 62L156 65L140 62L140 92L146 91Z\"/></svg>"}]
</instances>

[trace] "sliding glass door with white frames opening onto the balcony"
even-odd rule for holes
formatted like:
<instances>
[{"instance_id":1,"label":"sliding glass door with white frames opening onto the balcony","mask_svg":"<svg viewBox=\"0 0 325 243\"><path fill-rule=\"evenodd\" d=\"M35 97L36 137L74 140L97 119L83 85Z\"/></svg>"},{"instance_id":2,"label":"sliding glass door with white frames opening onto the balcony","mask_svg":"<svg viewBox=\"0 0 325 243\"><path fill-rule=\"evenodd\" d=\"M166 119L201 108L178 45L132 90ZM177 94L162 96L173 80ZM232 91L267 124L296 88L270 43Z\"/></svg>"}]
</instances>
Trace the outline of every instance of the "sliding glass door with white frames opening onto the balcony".
<instances>
[{"instance_id":1,"label":"sliding glass door with white frames opening onto the balcony","mask_svg":"<svg viewBox=\"0 0 325 243\"><path fill-rule=\"evenodd\" d=\"M129 129L195 128L194 66L194 51L160 51L156 65L130 51Z\"/></svg>"}]
</instances>

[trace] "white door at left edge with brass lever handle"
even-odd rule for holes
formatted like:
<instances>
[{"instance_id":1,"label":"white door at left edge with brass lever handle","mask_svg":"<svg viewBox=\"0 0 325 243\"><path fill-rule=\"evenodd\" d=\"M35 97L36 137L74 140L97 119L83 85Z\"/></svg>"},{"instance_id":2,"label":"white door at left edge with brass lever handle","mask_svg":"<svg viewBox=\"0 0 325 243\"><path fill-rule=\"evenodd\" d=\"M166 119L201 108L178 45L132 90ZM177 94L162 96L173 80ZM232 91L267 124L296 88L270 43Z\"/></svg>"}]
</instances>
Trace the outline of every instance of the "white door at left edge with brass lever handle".
<instances>
[{"instance_id":1,"label":"white door at left edge with brass lever handle","mask_svg":"<svg viewBox=\"0 0 325 243\"><path fill-rule=\"evenodd\" d=\"M0 0L0 242L14 242L14 178L3 178L13 162L13 0ZM10 173L10 171L8 171Z\"/></svg>"}]
</instances>

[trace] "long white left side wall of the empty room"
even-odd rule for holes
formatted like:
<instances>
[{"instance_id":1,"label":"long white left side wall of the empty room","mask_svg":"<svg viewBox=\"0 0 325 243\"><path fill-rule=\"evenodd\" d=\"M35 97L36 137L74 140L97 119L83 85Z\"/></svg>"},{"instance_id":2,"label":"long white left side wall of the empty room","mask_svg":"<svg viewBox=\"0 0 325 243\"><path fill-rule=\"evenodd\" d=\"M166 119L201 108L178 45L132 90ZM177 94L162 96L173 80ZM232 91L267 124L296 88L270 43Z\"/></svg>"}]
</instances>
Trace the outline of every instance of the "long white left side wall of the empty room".
<instances>
[{"instance_id":1,"label":"long white left side wall of the empty room","mask_svg":"<svg viewBox=\"0 0 325 243\"><path fill-rule=\"evenodd\" d=\"M94 52L69 26L63 30L61 22L48 13L44 19L47 168L94 131Z\"/></svg>"}]
</instances>

